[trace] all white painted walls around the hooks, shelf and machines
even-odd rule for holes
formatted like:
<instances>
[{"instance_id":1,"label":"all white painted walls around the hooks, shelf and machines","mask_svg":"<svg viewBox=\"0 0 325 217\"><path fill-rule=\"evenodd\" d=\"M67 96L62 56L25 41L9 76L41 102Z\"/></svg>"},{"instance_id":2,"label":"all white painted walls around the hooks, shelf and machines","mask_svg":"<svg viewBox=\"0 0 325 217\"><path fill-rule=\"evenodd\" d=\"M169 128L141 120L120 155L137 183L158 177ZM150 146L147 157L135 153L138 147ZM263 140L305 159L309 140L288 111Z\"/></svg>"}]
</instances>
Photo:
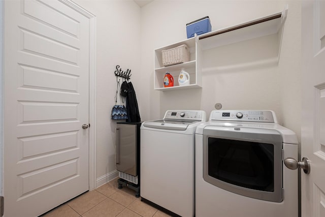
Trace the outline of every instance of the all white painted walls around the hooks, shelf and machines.
<instances>
[{"instance_id":1,"label":"all white painted walls around the hooks, shelf and machines","mask_svg":"<svg viewBox=\"0 0 325 217\"><path fill-rule=\"evenodd\" d=\"M299 1L76 1L97 18L96 176L105 183L115 171L115 124L110 119L116 91L115 66L131 69L141 119L161 118L167 109L271 109L300 140L301 78ZM153 90L153 52L186 39L186 23L209 16L212 30L251 21L289 4L280 60L276 36L232 44L203 53L203 88Z\"/></svg>"}]
</instances>

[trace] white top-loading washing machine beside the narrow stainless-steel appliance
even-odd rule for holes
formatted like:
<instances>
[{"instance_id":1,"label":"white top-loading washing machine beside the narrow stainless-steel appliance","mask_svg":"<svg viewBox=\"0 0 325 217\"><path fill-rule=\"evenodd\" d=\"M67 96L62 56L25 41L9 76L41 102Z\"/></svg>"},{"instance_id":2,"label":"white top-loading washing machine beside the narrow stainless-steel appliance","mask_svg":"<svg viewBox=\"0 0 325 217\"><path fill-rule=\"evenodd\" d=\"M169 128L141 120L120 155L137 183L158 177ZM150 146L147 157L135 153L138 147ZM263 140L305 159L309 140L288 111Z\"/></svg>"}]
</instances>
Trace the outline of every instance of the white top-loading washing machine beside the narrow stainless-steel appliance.
<instances>
[{"instance_id":1,"label":"white top-loading washing machine beside the narrow stainless-steel appliance","mask_svg":"<svg viewBox=\"0 0 325 217\"><path fill-rule=\"evenodd\" d=\"M168 110L141 125L141 198L177 215L194 216L194 140L205 111Z\"/></svg>"}]
</instances>

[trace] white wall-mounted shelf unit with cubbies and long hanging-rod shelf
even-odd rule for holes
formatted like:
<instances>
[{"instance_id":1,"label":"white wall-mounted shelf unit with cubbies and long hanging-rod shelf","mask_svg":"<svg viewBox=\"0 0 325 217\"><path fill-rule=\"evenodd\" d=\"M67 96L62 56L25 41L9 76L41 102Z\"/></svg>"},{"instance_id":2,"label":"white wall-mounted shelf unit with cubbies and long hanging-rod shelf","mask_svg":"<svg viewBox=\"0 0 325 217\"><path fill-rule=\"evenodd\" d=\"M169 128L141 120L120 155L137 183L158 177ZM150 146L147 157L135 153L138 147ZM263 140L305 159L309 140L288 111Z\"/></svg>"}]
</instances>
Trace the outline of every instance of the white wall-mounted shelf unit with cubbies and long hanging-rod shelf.
<instances>
[{"instance_id":1,"label":"white wall-mounted shelf unit with cubbies and long hanging-rod shelf","mask_svg":"<svg viewBox=\"0 0 325 217\"><path fill-rule=\"evenodd\" d=\"M155 49L154 89L160 91L168 91L185 88L202 88L202 51L254 38L277 34L283 27L286 14L287 8L285 8L284 11L280 13L228 28L215 30L213 32L209 32L200 36L196 35L195 37L184 40L182 42ZM282 32L283 31L281 31L281 34ZM183 44L186 44L189 48L190 61L183 64L164 67L162 63L163 60L161 51L175 48ZM187 86L178 85L178 75L182 69L190 74L190 84ZM169 72L174 77L173 87L164 87L164 76L166 72Z\"/></svg>"}]
</instances>

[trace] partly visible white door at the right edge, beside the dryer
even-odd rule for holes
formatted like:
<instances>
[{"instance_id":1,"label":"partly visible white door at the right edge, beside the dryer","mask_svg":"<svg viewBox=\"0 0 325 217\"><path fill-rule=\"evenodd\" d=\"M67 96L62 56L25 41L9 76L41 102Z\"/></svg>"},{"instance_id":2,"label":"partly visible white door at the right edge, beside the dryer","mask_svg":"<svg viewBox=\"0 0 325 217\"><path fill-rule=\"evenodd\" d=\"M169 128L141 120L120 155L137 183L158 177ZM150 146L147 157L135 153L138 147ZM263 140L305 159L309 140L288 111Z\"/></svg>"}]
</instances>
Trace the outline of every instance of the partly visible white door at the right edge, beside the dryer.
<instances>
[{"instance_id":1,"label":"partly visible white door at the right edge, beside the dryer","mask_svg":"<svg viewBox=\"0 0 325 217\"><path fill-rule=\"evenodd\" d=\"M325 216L325 1L303 1L302 7L302 216Z\"/></svg>"}]
</instances>

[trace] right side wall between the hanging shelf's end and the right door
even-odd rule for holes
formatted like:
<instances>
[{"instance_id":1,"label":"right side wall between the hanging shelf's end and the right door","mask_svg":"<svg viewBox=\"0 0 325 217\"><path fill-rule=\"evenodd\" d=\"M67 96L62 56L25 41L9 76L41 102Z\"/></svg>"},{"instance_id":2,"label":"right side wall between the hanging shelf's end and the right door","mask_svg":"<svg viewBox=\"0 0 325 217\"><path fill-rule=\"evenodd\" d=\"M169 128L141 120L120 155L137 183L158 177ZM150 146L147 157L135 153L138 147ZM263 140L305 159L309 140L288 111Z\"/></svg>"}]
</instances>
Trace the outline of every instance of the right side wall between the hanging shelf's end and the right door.
<instances>
[{"instance_id":1,"label":"right side wall between the hanging shelf's end and the right door","mask_svg":"<svg viewBox=\"0 0 325 217\"><path fill-rule=\"evenodd\" d=\"M279 61L280 113L283 126L296 132L301 141L302 63L301 63L301 1L288 1ZM300 146L299 146L300 154Z\"/></svg>"}]
</instances>

